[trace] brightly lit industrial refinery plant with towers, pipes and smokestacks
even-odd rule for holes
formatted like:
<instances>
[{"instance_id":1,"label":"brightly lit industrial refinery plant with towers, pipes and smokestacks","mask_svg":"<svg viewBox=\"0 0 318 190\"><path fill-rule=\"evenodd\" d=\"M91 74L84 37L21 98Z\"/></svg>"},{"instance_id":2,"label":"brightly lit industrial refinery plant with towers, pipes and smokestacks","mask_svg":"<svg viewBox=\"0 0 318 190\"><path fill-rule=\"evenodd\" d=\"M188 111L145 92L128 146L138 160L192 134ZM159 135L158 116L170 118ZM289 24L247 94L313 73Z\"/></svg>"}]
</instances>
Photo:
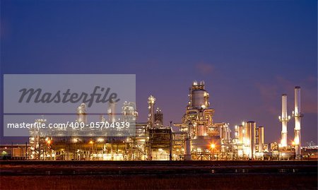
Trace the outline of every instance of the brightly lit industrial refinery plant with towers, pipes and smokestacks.
<instances>
[{"instance_id":1,"label":"brightly lit industrial refinery plant with towers, pipes and smokestacks","mask_svg":"<svg viewBox=\"0 0 318 190\"><path fill-rule=\"evenodd\" d=\"M243 121L238 126L213 120L204 81L194 81L189 88L189 102L179 123L165 126L164 114L155 107L156 98L148 97L148 121L136 122L138 112L134 102L124 102L121 114L116 117L117 105L110 102L107 113L100 121L133 121L134 136L112 136L110 132L98 132L100 136L83 136L80 129L57 129L47 136L40 129L30 129L29 143L8 147L14 158L28 160L292 160L302 159L300 87L295 87L295 108L288 115L287 95L282 95L281 141L264 143L266 126L255 121ZM106 109L105 109L106 110ZM86 124L90 116L86 104L76 109L78 123ZM295 119L293 143L287 141L287 127ZM36 119L45 123L43 117ZM4 146L1 148L3 149ZM6 147L7 148L7 147Z\"/></svg>"}]
</instances>

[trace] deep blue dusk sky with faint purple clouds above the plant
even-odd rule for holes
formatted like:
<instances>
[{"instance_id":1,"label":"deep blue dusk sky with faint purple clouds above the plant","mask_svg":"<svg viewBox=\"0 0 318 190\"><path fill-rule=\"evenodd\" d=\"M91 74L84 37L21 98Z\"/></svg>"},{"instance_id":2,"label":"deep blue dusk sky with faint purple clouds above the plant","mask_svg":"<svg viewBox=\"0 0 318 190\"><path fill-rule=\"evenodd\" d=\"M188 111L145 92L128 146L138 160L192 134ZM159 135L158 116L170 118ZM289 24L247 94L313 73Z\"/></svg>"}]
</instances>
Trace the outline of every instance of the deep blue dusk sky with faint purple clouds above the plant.
<instances>
[{"instance_id":1,"label":"deep blue dusk sky with faint purple clouds above the plant","mask_svg":"<svg viewBox=\"0 0 318 190\"><path fill-rule=\"evenodd\" d=\"M139 121L154 95L165 124L205 81L214 121L257 121L266 143L300 85L302 141L317 143L317 1L1 1L1 90L7 73L136 74Z\"/></svg>"}]
</instances>

